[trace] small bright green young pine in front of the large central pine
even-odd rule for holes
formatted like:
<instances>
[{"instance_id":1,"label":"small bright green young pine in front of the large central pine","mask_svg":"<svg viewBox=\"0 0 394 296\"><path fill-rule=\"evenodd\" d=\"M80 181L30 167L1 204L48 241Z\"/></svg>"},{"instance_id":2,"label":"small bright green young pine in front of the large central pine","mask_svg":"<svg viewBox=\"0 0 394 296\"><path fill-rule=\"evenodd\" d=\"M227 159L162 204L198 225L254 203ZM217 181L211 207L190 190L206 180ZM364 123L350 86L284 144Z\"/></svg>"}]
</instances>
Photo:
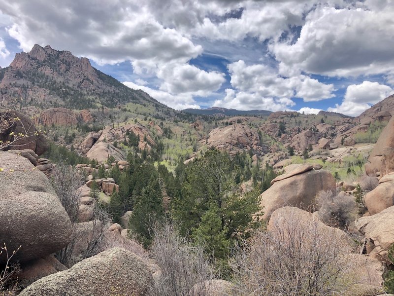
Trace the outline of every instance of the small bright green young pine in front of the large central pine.
<instances>
[{"instance_id":1,"label":"small bright green young pine in front of the large central pine","mask_svg":"<svg viewBox=\"0 0 394 296\"><path fill-rule=\"evenodd\" d=\"M226 237L227 227L222 227L219 209L212 204L208 211L201 217L201 222L193 231L193 238L202 242L209 254L215 258L226 258L229 252L229 240Z\"/></svg>"}]
</instances>

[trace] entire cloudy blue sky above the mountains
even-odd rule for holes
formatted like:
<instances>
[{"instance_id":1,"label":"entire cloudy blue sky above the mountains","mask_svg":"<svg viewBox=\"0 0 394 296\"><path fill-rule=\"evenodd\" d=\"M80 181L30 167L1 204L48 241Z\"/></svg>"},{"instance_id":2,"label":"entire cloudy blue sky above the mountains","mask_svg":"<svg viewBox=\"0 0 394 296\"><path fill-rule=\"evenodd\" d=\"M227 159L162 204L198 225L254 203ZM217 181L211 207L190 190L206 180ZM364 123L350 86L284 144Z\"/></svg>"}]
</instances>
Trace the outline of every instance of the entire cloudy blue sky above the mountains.
<instances>
[{"instance_id":1,"label":"entire cloudy blue sky above the mountains","mask_svg":"<svg viewBox=\"0 0 394 296\"><path fill-rule=\"evenodd\" d=\"M35 43L177 110L357 116L394 94L394 0L0 0L0 66Z\"/></svg>"}]
</instances>

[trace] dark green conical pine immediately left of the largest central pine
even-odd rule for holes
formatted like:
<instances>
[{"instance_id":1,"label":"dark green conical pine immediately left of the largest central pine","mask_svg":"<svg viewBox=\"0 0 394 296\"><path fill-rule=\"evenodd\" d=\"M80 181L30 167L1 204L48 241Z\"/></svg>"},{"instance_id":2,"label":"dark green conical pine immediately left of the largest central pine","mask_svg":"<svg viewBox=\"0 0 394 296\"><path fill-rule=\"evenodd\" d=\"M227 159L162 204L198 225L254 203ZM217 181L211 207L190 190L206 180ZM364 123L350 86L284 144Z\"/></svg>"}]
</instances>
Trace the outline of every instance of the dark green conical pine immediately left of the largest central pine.
<instances>
[{"instance_id":1,"label":"dark green conical pine immediately left of the largest central pine","mask_svg":"<svg viewBox=\"0 0 394 296\"><path fill-rule=\"evenodd\" d=\"M152 243L152 224L164 219L163 194L159 179L152 178L142 190L129 221L130 235L147 248Z\"/></svg>"}]
</instances>

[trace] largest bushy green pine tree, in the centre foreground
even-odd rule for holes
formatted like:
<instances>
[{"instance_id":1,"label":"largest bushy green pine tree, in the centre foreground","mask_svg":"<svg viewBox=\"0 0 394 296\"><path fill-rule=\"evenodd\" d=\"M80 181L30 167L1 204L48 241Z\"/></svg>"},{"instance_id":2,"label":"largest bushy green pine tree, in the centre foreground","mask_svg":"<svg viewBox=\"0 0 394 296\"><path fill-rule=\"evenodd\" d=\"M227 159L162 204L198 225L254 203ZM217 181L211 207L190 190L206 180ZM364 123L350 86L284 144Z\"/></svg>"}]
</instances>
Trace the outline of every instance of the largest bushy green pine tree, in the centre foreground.
<instances>
[{"instance_id":1,"label":"largest bushy green pine tree, in the centre foreground","mask_svg":"<svg viewBox=\"0 0 394 296\"><path fill-rule=\"evenodd\" d=\"M242 160L242 158L239 158ZM248 235L248 229L257 227L253 215L260 210L259 189L248 194L239 194L233 190L236 183L236 173L232 168L238 167L225 152L210 149L186 166L184 180L180 194L172 201L172 218L181 225L183 234L191 233L196 238L196 229L200 228L199 235L204 236L209 224L218 225L213 217L220 219L220 229L215 228L211 241L220 244L213 248L217 250L215 256L223 259L225 254L222 247L233 244L241 237ZM204 217L204 222L202 218ZM227 243L222 242L223 235Z\"/></svg>"}]
</instances>

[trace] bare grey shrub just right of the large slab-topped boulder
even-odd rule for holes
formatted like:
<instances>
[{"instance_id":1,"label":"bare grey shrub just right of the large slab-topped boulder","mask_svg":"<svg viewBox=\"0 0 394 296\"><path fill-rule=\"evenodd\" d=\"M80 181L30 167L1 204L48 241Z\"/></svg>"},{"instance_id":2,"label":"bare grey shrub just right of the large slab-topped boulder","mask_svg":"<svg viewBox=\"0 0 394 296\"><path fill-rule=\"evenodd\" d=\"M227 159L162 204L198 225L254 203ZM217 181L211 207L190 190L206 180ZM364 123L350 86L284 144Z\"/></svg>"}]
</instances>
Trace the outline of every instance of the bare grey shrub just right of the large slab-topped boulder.
<instances>
[{"instance_id":1,"label":"bare grey shrub just right of the large slab-topped boulder","mask_svg":"<svg viewBox=\"0 0 394 296\"><path fill-rule=\"evenodd\" d=\"M320 191L315 202L320 220L329 226L344 228L357 218L356 201L343 192Z\"/></svg>"}]
</instances>

